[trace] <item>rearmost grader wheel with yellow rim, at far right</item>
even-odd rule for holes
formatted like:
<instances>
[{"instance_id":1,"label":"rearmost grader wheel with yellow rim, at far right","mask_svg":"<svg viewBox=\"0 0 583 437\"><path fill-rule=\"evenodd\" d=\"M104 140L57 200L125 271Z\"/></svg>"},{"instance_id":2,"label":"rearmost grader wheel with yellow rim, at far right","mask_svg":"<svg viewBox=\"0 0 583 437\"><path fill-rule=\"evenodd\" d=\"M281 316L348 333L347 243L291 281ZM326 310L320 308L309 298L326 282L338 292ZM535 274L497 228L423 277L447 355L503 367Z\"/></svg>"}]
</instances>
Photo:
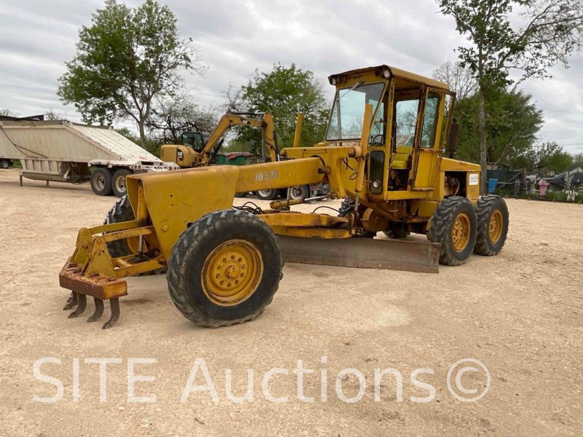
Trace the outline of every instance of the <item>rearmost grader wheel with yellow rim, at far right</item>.
<instances>
[{"instance_id":1,"label":"rearmost grader wheel with yellow rim, at far right","mask_svg":"<svg viewBox=\"0 0 583 437\"><path fill-rule=\"evenodd\" d=\"M498 255L508 234L508 207L500 196L483 196L476 203L477 237L474 253Z\"/></svg>"}]
</instances>

